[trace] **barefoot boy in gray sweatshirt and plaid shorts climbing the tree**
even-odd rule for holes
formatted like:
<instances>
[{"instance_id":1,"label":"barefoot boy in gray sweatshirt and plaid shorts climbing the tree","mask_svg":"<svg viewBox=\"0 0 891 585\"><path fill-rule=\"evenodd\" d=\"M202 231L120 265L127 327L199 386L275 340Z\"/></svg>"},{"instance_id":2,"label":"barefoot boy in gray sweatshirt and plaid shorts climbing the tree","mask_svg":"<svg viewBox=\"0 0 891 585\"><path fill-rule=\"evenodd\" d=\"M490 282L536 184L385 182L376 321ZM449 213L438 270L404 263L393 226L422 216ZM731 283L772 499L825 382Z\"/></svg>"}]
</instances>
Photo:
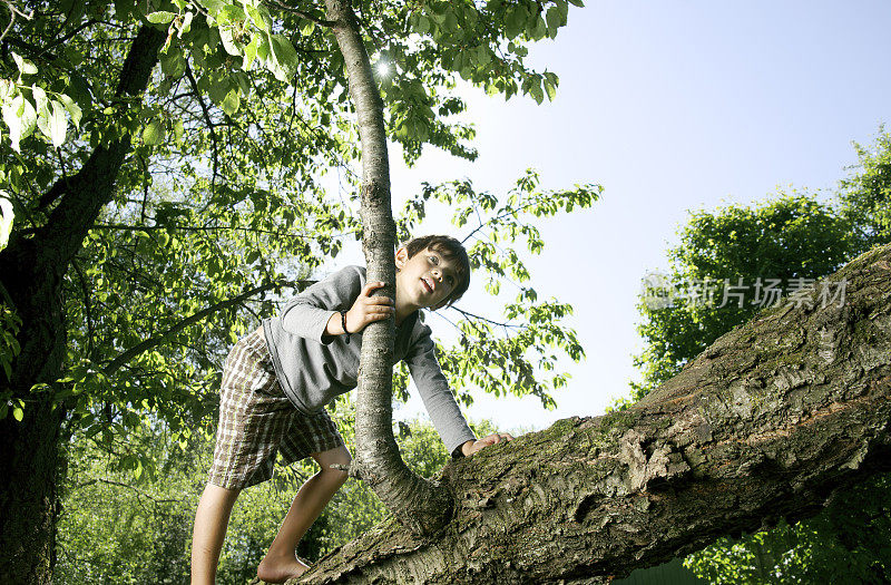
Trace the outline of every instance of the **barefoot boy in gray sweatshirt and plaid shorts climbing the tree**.
<instances>
[{"instance_id":1,"label":"barefoot boy in gray sweatshirt and plaid shorts climbing the tree","mask_svg":"<svg viewBox=\"0 0 891 585\"><path fill-rule=\"evenodd\" d=\"M396 299L370 296L383 286L349 266L291 300L229 352L221 388L219 426L210 477L195 514L192 583L213 583L229 514L241 490L270 479L276 452L290 464L312 457L322 470L297 491L257 576L284 583L309 567L294 549L346 480L333 464L350 464L324 406L356 386L361 331L391 315L396 322L395 360L404 359L433 425L454 456L510 440L477 440L458 409L437 362L430 328L420 309L453 303L470 284L470 263L460 242L425 236L396 251Z\"/></svg>"}]
</instances>

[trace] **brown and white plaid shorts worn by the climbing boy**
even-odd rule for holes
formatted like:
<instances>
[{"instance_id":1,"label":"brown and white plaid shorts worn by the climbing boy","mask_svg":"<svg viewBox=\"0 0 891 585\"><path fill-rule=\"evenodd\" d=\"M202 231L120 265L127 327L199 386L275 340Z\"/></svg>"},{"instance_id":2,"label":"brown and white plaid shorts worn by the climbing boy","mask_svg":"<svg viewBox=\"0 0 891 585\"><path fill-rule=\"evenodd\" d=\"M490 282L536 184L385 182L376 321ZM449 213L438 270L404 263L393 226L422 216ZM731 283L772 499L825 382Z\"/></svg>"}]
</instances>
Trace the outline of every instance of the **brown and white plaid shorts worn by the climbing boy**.
<instances>
[{"instance_id":1,"label":"brown and white plaid shorts worn by the climbing boy","mask_svg":"<svg viewBox=\"0 0 891 585\"><path fill-rule=\"evenodd\" d=\"M276 454L291 464L343 446L327 412L306 416L275 378L263 328L241 339L223 369L219 426L208 481L242 489L272 477Z\"/></svg>"}]
</instances>

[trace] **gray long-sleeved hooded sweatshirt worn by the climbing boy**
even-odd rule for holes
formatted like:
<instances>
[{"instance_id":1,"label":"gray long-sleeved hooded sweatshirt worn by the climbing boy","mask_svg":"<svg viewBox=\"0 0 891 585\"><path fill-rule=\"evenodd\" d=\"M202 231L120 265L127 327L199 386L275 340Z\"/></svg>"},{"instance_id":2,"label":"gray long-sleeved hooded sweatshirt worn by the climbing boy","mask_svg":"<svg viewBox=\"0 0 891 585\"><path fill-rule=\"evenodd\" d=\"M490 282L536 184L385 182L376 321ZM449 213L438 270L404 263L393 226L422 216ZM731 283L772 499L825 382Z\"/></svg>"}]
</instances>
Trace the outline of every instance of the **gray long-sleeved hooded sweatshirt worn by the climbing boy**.
<instances>
[{"instance_id":1,"label":"gray long-sleeved hooded sweatshirt worn by the climbing boy","mask_svg":"<svg viewBox=\"0 0 891 585\"><path fill-rule=\"evenodd\" d=\"M288 301L263 321L275 376L301 412L317 412L356 387L362 333L327 335L331 315L347 311L365 285L365 269L347 266ZM346 342L349 338L349 343ZM430 328L415 311L396 328L394 364L405 360L433 426L449 452L476 440L437 361Z\"/></svg>"}]
</instances>

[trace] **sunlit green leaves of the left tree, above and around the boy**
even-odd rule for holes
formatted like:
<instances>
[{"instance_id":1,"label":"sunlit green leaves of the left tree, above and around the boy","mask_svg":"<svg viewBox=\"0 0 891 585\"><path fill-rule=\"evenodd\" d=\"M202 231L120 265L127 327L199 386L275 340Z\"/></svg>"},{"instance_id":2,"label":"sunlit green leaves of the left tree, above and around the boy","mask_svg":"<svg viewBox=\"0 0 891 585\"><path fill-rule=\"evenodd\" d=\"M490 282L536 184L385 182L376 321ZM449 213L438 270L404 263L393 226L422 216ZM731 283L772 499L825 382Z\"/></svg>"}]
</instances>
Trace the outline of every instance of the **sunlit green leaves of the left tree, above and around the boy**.
<instances>
[{"instance_id":1,"label":"sunlit green leaves of the left tree, above and around the boy","mask_svg":"<svg viewBox=\"0 0 891 585\"><path fill-rule=\"evenodd\" d=\"M359 3L368 42L390 66L381 78L390 134L410 160L424 144L474 156L466 142L472 129L451 121L466 109L456 94L458 78L508 97L552 92L556 76L525 65L528 42L554 37L566 23L568 4L549 4ZM25 55L14 59L18 69L4 71L14 77L9 87L31 99L33 91L22 89L25 76L47 95L70 96L59 99L75 104L70 111L79 113L81 124L69 128L65 144L22 135L29 156L8 150L0 178L17 212L13 240L40 230L58 203L50 187L82 164L91 147L123 134L134 137L114 199L65 276L66 370L58 384L35 390L70 409L69 429L84 428L109 446L119 435L128 465L145 468L148 458L123 447L127 432L150 423L148 413L184 441L193 429L207 429L227 345L274 310L272 299L302 287L346 240L358 237L354 197L324 187L324 175L336 169L347 187L355 184L342 58L311 3L68 1L35 2L33 10L7 38ZM166 31L160 70L145 100L125 108L110 90L134 32L144 26ZM40 110L40 104L32 106ZM431 197L462 206L459 226L470 211L476 217L488 213L471 238L474 269L489 274L491 289L506 276L523 282L521 252L510 244L525 237L537 253L544 243L522 217L596 199L591 186L551 194L537 183L533 175L525 177L502 202L472 188L446 195L448 186L427 187L402 225L414 226ZM9 311L4 304L4 359L17 349ZM537 302L526 286L508 309L508 320L520 316L519 324L502 328L503 335L488 335L491 323L470 314L457 319L464 349L447 351L444 359L453 382L531 392L552 404L549 389L564 378L536 382L539 369L527 351L538 352L545 369L554 368L550 345L579 359L575 334L559 325L569 311ZM505 371L511 373L478 376L479 362L492 357L495 363L510 362ZM12 398L10 392L3 398Z\"/></svg>"}]
</instances>

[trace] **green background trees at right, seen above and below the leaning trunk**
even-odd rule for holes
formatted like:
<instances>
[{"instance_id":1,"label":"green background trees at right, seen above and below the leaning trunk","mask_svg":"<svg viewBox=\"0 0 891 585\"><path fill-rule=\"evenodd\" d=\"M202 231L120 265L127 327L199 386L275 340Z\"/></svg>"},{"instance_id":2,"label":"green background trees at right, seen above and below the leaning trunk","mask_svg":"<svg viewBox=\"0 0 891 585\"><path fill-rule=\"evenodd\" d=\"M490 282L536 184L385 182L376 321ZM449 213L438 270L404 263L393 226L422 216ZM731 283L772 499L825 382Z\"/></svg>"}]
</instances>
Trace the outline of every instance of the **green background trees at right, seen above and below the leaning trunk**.
<instances>
[{"instance_id":1,"label":"green background trees at right, seen above and below the leaning trunk","mask_svg":"<svg viewBox=\"0 0 891 585\"><path fill-rule=\"evenodd\" d=\"M643 381L633 384L633 399L773 304L771 280L777 281L774 289L794 293L790 287L823 277L888 241L888 134L880 129L873 145L856 146L856 152L860 163L840 183L832 204L795 193L692 214L679 245L668 253L670 273L645 279L652 287L638 305L644 318L638 331L646 347L636 358ZM756 282L763 285L757 291ZM686 563L712 583L884 582L891 571L888 481L878 476L794 526L722 538Z\"/></svg>"}]
</instances>

